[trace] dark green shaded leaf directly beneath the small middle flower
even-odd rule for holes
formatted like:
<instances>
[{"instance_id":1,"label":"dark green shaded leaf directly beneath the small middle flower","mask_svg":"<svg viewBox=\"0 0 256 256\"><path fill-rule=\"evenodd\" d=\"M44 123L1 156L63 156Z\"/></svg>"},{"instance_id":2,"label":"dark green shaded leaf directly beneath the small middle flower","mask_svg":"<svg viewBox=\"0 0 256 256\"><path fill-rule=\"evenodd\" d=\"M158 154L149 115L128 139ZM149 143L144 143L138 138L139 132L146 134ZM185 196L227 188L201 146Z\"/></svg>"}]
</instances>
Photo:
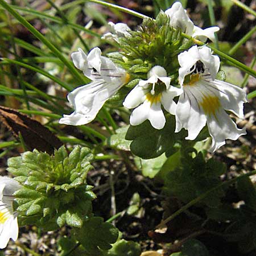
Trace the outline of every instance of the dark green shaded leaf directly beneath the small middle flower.
<instances>
[{"instance_id":1,"label":"dark green shaded leaf directly beneath the small middle flower","mask_svg":"<svg viewBox=\"0 0 256 256\"><path fill-rule=\"evenodd\" d=\"M143 159L156 158L167 150L171 150L174 143L185 137L184 130L175 131L174 115L166 116L166 125L163 129L154 129L147 120L138 126L130 126L126 139L131 142L130 148L134 155Z\"/></svg>"}]
</instances>

